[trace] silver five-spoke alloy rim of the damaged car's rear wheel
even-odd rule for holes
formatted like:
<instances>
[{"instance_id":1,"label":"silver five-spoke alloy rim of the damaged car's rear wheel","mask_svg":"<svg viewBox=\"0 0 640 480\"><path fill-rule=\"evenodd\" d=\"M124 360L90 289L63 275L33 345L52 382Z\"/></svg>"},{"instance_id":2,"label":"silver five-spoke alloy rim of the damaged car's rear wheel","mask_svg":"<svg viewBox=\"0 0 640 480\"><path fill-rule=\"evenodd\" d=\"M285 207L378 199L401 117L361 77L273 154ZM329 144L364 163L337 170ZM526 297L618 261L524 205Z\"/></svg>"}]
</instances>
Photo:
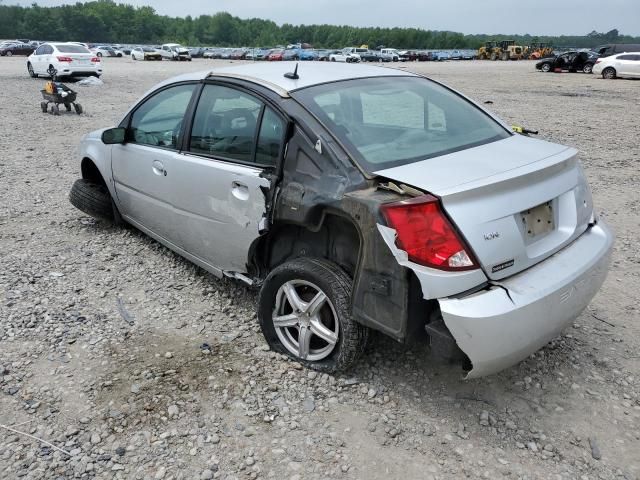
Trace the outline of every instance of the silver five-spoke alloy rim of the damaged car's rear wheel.
<instances>
[{"instance_id":1,"label":"silver five-spoke alloy rim of the damaged car's rear wheel","mask_svg":"<svg viewBox=\"0 0 640 480\"><path fill-rule=\"evenodd\" d=\"M340 322L333 304L306 280L290 280L278 289L272 321L282 345L301 360L327 358L339 340Z\"/></svg>"}]
</instances>

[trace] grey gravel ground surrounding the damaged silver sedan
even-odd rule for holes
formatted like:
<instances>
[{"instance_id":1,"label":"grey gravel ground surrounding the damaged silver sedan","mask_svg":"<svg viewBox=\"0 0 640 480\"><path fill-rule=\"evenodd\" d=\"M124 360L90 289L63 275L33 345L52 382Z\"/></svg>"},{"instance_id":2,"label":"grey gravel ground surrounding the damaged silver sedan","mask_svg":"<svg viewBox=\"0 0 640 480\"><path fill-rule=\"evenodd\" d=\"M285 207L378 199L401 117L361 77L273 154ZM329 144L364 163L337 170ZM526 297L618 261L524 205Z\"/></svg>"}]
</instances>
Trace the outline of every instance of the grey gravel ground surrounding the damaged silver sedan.
<instances>
[{"instance_id":1,"label":"grey gravel ground surrounding the damaged silver sedan","mask_svg":"<svg viewBox=\"0 0 640 480\"><path fill-rule=\"evenodd\" d=\"M406 66L577 147L614 260L562 337L498 375L379 337L334 377L267 349L254 292L67 200L84 133L222 63L107 59L103 86L77 87L86 113L54 117L24 58L0 58L0 424L23 432L0 428L1 477L639 478L640 82Z\"/></svg>"}]
</instances>

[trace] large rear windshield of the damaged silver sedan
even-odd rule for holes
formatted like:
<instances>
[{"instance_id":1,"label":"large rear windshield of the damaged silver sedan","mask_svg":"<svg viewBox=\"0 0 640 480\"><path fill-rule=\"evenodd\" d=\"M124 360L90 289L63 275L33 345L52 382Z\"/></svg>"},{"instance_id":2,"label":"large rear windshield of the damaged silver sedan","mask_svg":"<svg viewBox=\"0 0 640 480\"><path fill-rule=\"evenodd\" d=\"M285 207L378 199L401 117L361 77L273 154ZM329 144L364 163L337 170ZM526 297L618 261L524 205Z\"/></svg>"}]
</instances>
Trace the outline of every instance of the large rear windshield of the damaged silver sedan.
<instances>
[{"instance_id":1,"label":"large rear windshield of the damaged silver sedan","mask_svg":"<svg viewBox=\"0 0 640 480\"><path fill-rule=\"evenodd\" d=\"M478 107L424 78L333 82L294 97L369 173L510 136Z\"/></svg>"}]
</instances>

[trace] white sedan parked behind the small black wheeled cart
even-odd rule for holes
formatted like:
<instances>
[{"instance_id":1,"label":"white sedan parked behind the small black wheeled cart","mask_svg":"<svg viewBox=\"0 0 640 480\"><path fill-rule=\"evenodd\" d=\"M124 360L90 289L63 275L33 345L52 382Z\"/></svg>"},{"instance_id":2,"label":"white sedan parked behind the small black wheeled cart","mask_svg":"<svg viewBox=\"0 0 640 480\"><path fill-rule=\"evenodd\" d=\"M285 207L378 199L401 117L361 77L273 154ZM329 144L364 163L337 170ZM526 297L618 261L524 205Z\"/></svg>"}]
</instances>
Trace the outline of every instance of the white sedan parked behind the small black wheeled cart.
<instances>
[{"instance_id":1,"label":"white sedan parked behind the small black wheeled cart","mask_svg":"<svg viewBox=\"0 0 640 480\"><path fill-rule=\"evenodd\" d=\"M33 78L40 75L60 77L100 77L102 62L95 53L73 43L43 43L27 58L27 71Z\"/></svg>"}]
</instances>

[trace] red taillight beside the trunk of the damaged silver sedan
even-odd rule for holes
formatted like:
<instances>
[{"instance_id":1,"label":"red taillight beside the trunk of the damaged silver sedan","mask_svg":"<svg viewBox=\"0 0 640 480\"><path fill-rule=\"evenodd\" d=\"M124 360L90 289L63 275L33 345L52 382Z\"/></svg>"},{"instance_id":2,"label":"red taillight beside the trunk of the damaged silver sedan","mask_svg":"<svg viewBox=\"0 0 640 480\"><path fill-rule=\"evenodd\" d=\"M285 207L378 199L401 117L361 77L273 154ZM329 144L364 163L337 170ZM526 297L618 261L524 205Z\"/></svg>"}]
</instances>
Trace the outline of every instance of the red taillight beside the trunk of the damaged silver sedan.
<instances>
[{"instance_id":1,"label":"red taillight beside the trunk of the damaged silver sedan","mask_svg":"<svg viewBox=\"0 0 640 480\"><path fill-rule=\"evenodd\" d=\"M396 231L398 248L407 252L412 262L439 270L478 268L436 197L423 195L388 203L381 210L388 226Z\"/></svg>"}]
</instances>

